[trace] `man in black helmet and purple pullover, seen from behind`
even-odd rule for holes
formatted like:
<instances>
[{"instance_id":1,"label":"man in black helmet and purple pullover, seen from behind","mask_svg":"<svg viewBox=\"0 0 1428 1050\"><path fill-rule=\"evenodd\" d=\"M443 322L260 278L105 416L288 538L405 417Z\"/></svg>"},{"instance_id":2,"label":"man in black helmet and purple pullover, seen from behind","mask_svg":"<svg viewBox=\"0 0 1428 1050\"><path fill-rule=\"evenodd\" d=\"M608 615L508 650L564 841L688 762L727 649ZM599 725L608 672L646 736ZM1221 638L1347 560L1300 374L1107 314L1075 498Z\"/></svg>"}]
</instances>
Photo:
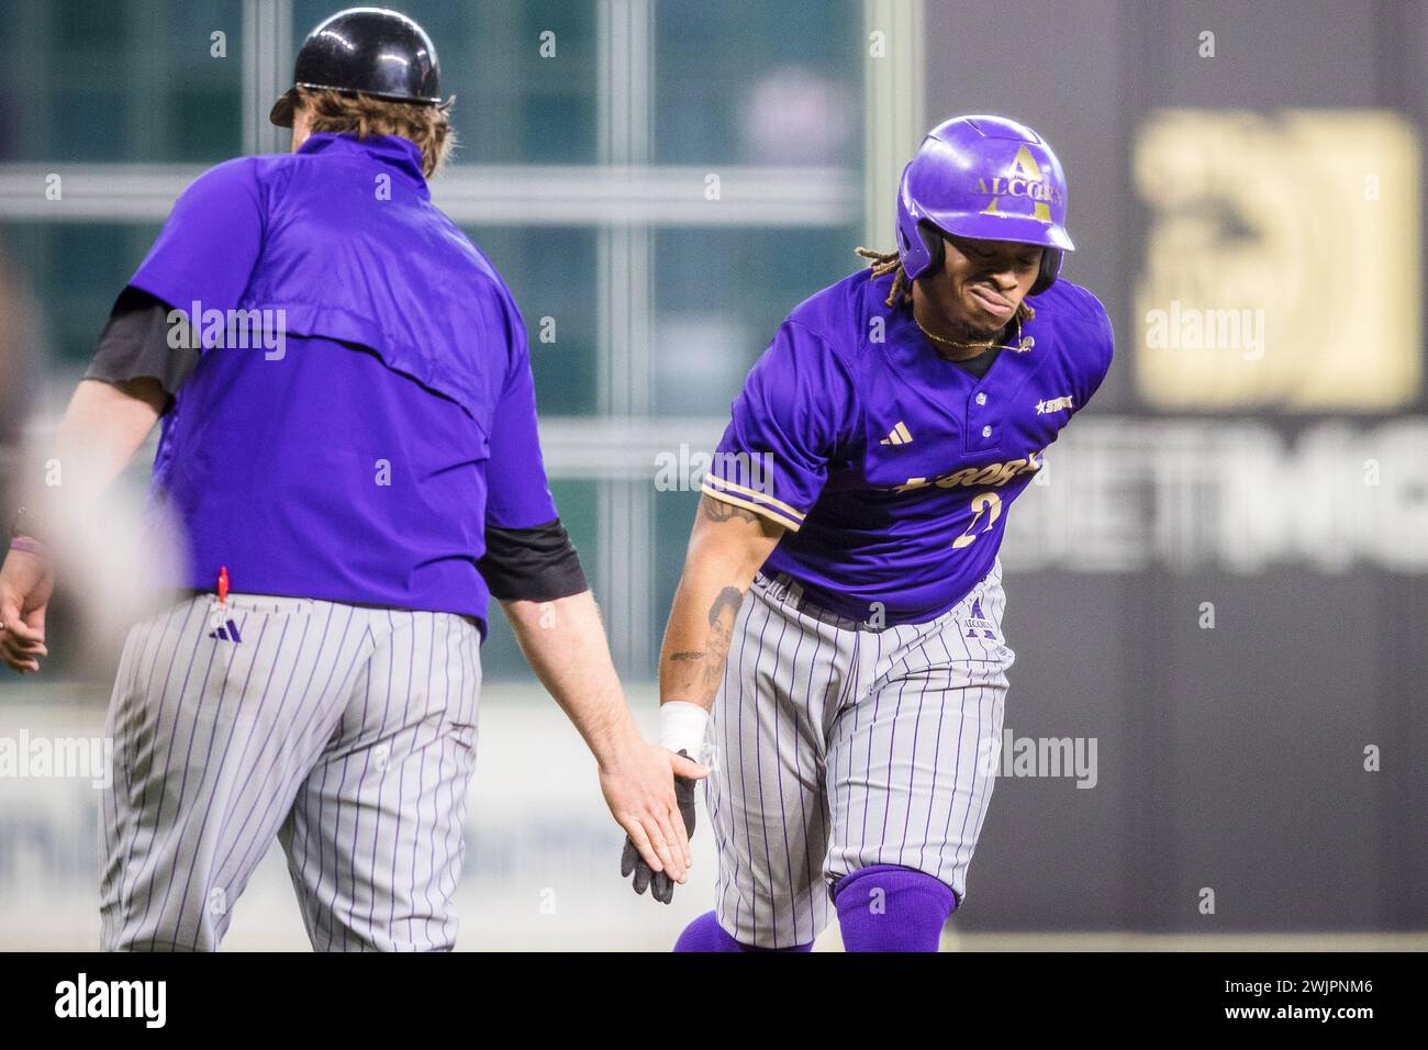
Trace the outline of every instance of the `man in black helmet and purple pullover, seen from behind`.
<instances>
[{"instance_id":1,"label":"man in black helmet and purple pullover, seen from behind","mask_svg":"<svg viewBox=\"0 0 1428 1050\"><path fill-rule=\"evenodd\" d=\"M410 19L314 29L271 113L293 153L184 191L66 414L90 487L163 420L153 497L187 540L110 704L106 949L216 949L274 837L314 949L451 949L488 593L643 863L684 879L674 773L703 770L634 729L545 483L521 316L431 204L448 106ZM53 579L31 494L0 570L20 671Z\"/></svg>"}]
</instances>

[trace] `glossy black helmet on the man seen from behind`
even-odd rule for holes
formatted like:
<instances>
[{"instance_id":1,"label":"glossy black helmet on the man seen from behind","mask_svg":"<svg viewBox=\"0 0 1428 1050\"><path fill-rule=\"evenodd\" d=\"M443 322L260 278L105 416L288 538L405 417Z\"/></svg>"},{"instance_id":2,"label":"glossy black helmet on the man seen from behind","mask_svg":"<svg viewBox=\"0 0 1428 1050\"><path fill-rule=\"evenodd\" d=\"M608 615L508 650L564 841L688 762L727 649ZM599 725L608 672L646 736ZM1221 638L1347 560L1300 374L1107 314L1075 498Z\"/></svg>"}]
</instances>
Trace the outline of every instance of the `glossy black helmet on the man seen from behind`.
<instances>
[{"instance_id":1,"label":"glossy black helmet on the man seen from behind","mask_svg":"<svg viewBox=\"0 0 1428 1050\"><path fill-rule=\"evenodd\" d=\"M268 113L293 126L298 87L373 94L394 101L441 101L437 49L416 21L384 7L350 7L307 34L293 66L293 87Z\"/></svg>"}]
</instances>

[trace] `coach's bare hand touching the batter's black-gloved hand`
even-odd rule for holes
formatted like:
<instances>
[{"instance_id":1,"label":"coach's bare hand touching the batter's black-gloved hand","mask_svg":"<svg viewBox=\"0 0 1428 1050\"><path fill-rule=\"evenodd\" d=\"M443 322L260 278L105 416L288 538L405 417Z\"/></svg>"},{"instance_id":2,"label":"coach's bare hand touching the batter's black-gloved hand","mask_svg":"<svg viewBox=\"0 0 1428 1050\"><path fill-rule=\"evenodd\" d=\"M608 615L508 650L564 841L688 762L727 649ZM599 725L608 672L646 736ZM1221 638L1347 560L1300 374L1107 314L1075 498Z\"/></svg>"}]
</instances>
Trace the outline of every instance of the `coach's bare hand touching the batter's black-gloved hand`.
<instances>
[{"instance_id":1,"label":"coach's bare hand touching the batter's black-gloved hand","mask_svg":"<svg viewBox=\"0 0 1428 1050\"><path fill-rule=\"evenodd\" d=\"M643 869L644 880L635 874L640 893L650 886L658 871L683 883L690 864L690 833L680 809L675 780L693 781L708 776L708 770L687 756L665 747L637 740L621 760L600 769L600 789L615 821L628 836L625 857L634 857L630 871ZM691 797L693 801L693 797ZM693 811L691 811L693 814Z\"/></svg>"}]
</instances>

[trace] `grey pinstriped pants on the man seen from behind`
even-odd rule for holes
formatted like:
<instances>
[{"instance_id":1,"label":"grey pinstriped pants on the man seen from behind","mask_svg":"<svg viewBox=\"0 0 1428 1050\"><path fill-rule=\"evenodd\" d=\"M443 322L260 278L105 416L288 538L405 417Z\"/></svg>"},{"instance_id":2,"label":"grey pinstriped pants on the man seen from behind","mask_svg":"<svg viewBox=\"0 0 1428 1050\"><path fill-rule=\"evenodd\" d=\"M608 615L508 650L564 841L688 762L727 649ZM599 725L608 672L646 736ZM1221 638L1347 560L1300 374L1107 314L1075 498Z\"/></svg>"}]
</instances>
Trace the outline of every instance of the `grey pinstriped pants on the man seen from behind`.
<instances>
[{"instance_id":1,"label":"grey pinstriped pants on the man seen from behind","mask_svg":"<svg viewBox=\"0 0 1428 1050\"><path fill-rule=\"evenodd\" d=\"M467 617L197 596L129 634L101 809L106 950L218 947L274 837L317 950L450 950L476 766ZM217 630L223 626L223 630Z\"/></svg>"}]
</instances>

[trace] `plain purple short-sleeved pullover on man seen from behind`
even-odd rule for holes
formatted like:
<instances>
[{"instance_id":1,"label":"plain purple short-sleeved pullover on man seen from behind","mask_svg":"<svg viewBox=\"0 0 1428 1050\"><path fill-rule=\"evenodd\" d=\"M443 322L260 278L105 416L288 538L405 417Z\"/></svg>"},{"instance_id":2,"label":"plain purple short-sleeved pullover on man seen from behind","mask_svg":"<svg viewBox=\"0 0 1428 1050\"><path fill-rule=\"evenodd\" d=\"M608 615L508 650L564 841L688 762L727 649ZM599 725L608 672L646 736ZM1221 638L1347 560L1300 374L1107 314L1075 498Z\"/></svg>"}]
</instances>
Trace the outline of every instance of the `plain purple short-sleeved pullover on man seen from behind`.
<instances>
[{"instance_id":1,"label":"plain purple short-sleeved pullover on man seen from behind","mask_svg":"<svg viewBox=\"0 0 1428 1050\"><path fill-rule=\"evenodd\" d=\"M203 333L154 461L187 541L171 583L211 590L226 566L234 591L484 624L484 527L557 513L524 323L413 143L314 134L220 164L130 284ZM281 350L210 311L256 311Z\"/></svg>"}]
</instances>

